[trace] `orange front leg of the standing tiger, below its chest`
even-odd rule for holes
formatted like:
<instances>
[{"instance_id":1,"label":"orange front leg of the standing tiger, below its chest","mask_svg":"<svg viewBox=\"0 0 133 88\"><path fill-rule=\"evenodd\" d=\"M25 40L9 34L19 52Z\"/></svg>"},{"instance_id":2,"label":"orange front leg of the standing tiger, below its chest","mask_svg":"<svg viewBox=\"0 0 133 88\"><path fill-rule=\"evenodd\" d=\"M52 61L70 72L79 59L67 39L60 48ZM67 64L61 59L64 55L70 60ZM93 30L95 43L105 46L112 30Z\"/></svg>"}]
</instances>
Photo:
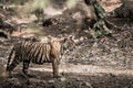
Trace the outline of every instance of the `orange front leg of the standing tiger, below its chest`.
<instances>
[{"instance_id":1,"label":"orange front leg of the standing tiger, below its chest","mask_svg":"<svg viewBox=\"0 0 133 88\"><path fill-rule=\"evenodd\" d=\"M52 61L52 68L53 68L53 77L59 78L60 77L60 75L59 75L59 62L55 58Z\"/></svg>"}]
</instances>

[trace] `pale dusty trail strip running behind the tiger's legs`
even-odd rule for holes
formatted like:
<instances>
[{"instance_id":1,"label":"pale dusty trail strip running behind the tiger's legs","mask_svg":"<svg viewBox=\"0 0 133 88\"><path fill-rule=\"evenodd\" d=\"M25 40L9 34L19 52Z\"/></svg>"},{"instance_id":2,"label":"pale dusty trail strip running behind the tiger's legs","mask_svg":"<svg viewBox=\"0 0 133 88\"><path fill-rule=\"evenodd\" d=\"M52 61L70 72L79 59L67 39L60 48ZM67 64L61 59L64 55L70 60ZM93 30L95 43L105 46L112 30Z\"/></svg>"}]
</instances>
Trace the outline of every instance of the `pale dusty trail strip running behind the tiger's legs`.
<instances>
[{"instance_id":1,"label":"pale dusty trail strip running behind the tiger's legs","mask_svg":"<svg viewBox=\"0 0 133 88\"><path fill-rule=\"evenodd\" d=\"M40 66L31 67L30 69L35 72L52 72L51 65L41 66L41 67ZM93 66L93 65L73 65L73 64L60 65L60 73L71 73L71 74L79 74L84 76L101 75L101 74L133 75L132 69L102 67L102 66Z\"/></svg>"}]
</instances>

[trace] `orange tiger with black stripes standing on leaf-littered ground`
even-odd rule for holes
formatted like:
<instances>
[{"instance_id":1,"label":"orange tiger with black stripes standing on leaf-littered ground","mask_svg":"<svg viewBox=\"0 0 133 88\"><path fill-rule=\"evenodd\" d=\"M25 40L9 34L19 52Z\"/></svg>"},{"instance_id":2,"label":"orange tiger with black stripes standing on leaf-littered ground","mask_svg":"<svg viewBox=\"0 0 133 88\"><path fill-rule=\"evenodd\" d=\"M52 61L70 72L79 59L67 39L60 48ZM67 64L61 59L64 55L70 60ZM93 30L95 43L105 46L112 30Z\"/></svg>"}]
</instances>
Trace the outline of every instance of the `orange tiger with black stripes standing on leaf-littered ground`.
<instances>
[{"instance_id":1,"label":"orange tiger with black stripes standing on leaf-littered ground","mask_svg":"<svg viewBox=\"0 0 133 88\"><path fill-rule=\"evenodd\" d=\"M71 37L61 40L53 40L48 43L41 42L20 42L14 44L8 57L7 74L11 76L11 72L22 63L23 74L29 77L28 68L30 63L42 65L44 63L52 63L53 77L60 77L59 65L61 56L65 50L75 48L75 43ZM12 58L12 62L11 62ZM11 62L11 63L10 63Z\"/></svg>"}]
</instances>

